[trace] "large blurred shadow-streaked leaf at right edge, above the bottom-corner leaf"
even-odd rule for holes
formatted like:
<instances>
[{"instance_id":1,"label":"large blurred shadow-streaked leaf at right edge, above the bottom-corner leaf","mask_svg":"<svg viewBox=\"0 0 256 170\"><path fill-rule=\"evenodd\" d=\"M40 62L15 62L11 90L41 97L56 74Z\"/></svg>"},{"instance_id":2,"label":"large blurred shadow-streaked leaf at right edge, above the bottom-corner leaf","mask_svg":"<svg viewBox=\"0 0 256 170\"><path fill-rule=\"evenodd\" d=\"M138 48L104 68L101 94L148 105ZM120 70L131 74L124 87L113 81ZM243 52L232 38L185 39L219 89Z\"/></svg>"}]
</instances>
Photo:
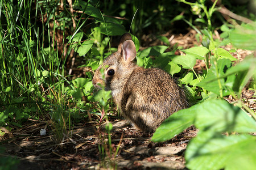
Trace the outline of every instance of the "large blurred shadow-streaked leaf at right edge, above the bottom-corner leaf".
<instances>
[{"instance_id":1,"label":"large blurred shadow-streaked leaf at right edge, above the bottom-corner leaf","mask_svg":"<svg viewBox=\"0 0 256 170\"><path fill-rule=\"evenodd\" d=\"M207 100L195 106L197 115L196 128L199 130L237 131L249 133L256 131L253 118L239 107L229 104L225 100Z\"/></svg>"}]
</instances>

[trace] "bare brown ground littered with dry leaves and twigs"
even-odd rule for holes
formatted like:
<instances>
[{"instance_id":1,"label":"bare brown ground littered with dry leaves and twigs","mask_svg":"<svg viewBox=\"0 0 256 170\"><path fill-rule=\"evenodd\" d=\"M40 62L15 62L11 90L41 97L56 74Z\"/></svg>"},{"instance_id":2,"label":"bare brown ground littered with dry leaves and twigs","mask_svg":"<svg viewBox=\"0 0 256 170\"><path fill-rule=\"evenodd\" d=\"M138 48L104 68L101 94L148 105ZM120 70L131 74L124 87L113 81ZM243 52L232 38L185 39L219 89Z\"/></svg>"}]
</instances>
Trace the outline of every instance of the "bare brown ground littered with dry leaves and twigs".
<instances>
[{"instance_id":1,"label":"bare brown ground littered with dry leaves and twigs","mask_svg":"<svg viewBox=\"0 0 256 170\"><path fill-rule=\"evenodd\" d=\"M199 45L195 35L196 32L191 30L187 35L166 33L163 36L168 37L171 45L178 43L187 49L195 44ZM144 36L143 39L143 46L162 43L154 39L154 36ZM225 49L229 50L231 47L225 46ZM242 60L250 53L252 52L238 50L233 56L237 57L239 54ZM201 71L204 66L203 62L198 62L195 70ZM82 70L73 71L77 71L79 75L82 73ZM255 111L254 92L245 89L242 98ZM226 100L233 101L232 97L227 97ZM97 122L76 125L56 145L53 133L50 128L46 128L50 122L30 120L23 128L1 137L0 142L6 148L1 156L18 158L18 169L187 169L184 151L188 142L196 136L197 130L193 126L170 141L154 143L150 141L152 134L134 129L125 120L110 118L109 121L114 126L111 145L108 145L104 125L97 128ZM42 136L40 129L44 128L47 133Z\"/></svg>"}]
</instances>

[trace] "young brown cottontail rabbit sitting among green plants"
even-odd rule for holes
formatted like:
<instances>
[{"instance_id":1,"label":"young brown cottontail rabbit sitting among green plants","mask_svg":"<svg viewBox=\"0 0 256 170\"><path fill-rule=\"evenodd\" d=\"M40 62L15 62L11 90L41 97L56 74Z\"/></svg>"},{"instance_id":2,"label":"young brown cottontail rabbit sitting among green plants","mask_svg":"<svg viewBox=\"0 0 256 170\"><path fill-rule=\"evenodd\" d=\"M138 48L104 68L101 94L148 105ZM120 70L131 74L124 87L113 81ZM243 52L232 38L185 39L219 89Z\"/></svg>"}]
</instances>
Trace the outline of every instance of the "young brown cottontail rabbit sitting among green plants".
<instances>
[{"instance_id":1,"label":"young brown cottontail rabbit sitting among green plants","mask_svg":"<svg viewBox=\"0 0 256 170\"><path fill-rule=\"evenodd\" d=\"M172 113L188 107L187 97L171 75L161 69L144 69L136 57L130 33L125 33L117 52L105 59L93 77L94 87L112 90L121 114L135 128L154 132ZM101 73L104 70L104 75Z\"/></svg>"}]
</instances>

